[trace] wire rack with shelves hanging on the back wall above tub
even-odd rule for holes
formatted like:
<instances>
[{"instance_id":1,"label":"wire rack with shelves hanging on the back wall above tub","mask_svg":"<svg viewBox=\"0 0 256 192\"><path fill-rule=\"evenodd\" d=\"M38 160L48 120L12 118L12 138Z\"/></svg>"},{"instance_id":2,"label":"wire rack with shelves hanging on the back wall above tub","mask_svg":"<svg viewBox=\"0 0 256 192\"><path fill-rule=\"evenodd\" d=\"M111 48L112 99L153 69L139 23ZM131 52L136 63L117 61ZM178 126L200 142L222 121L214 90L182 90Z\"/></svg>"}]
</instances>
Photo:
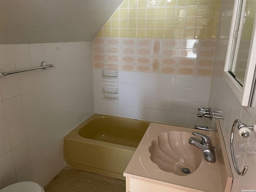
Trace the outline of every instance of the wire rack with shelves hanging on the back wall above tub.
<instances>
[{"instance_id":1,"label":"wire rack with shelves hanging on the back wall above tub","mask_svg":"<svg viewBox=\"0 0 256 192\"><path fill-rule=\"evenodd\" d=\"M118 100L119 99L119 70L111 69L108 66L115 64L118 60L114 52L104 52L104 68L101 76L103 78L102 99ZM112 58L109 60L108 58ZM113 59L114 58L114 59Z\"/></svg>"}]
</instances>

